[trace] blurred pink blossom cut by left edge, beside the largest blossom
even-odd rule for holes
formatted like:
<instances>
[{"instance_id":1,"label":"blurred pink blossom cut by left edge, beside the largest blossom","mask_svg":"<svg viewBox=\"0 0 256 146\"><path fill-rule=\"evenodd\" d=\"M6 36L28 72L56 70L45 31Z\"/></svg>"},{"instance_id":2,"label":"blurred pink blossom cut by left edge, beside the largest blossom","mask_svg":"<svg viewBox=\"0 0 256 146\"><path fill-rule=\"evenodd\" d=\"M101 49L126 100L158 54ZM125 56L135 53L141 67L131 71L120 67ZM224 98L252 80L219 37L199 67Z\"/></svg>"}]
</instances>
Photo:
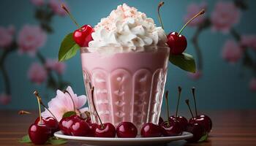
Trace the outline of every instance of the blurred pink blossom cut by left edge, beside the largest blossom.
<instances>
[{"instance_id":1,"label":"blurred pink blossom cut by left edge, beside the largest blossom","mask_svg":"<svg viewBox=\"0 0 256 146\"><path fill-rule=\"evenodd\" d=\"M8 26L8 28L0 26L0 47L4 48L11 45L14 32L14 26Z\"/></svg>"}]
</instances>

